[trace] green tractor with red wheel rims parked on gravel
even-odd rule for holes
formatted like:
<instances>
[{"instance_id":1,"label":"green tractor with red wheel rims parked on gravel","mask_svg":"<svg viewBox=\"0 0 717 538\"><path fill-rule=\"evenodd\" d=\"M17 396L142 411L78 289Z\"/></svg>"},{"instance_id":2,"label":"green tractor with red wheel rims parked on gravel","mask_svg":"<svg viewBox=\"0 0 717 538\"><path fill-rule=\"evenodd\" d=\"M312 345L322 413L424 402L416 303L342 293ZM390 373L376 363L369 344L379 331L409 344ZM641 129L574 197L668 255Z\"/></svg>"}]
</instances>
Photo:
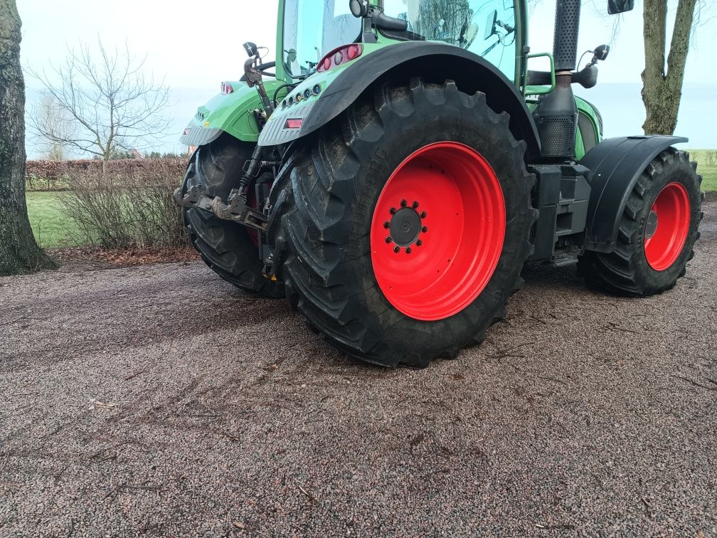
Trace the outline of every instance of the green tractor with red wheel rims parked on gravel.
<instances>
[{"instance_id":1,"label":"green tractor with red wheel rims parked on gravel","mask_svg":"<svg viewBox=\"0 0 717 538\"><path fill-rule=\"evenodd\" d=\"M281 0L276 61L244 44L244 77L182 137L201 258L392 367L483 341L527 262L673 288L702 216L687 140L602 139L572 85L596 85L609 47L579 69L581 2L556 4L554 50L531 54L526 0Z\"/></svg>"}]
</instances>

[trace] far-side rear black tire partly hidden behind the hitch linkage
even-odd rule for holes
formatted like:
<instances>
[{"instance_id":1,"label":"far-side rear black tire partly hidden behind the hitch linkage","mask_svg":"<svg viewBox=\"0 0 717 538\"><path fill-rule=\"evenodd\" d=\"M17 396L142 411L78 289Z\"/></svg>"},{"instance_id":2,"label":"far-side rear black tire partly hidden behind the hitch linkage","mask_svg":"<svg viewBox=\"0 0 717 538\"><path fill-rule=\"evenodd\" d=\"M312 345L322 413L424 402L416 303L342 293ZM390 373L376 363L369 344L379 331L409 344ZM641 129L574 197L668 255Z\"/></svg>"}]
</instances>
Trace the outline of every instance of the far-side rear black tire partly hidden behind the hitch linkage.
<instances>
[{"instance_id":1,"label":"far-side rear black tire partly hidden behind the hitch linkage","mask_svg":"<svg viewBox=\"0 0 717 538\"><path fill-rule=\"evenodd\" d=\"M227 133L206 146L199 146L187 164L182 188L201 185L208 196L226 200L229 192L238 187L244 162L253 150L254 144L239 141ZM259 296L285 296L282 283L262 275L263 263L247 228L219 219L204 209L185 208L183 217L191 244L214 273Z\"/></svg>"}]
</instances>

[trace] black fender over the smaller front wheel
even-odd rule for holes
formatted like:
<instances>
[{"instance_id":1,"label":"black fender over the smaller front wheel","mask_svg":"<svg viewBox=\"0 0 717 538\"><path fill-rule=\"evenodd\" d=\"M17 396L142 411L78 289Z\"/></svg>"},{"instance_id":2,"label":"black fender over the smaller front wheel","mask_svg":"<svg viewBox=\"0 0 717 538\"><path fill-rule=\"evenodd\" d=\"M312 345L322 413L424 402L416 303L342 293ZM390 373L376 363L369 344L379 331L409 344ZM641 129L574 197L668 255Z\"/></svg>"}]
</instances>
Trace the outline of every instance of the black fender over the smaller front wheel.
<instances>
[{"instance_id":1,"label":"black fender over the smaller front wheel","mask_svg":"<svg viewBox=\"0 0 717 538\"><path fill-rule=\"evenodd\" d=\"M592 148L580 164L592 171L585 250L611 253L627 199L637 179L661 151L687 142L680 136L620 136Z\"/></svg>"}]
</instances>

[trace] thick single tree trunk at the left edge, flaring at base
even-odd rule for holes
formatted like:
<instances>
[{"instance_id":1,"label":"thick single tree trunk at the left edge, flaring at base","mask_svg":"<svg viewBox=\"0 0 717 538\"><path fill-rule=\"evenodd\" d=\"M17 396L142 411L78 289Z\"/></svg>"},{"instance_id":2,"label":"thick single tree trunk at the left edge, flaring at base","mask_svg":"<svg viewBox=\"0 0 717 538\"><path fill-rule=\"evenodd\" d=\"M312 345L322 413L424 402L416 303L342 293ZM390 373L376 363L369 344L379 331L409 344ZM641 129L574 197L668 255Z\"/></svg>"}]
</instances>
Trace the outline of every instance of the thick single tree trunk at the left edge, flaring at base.
<instances>
[{"instance_id":1,"label":"thick single tree trunk at the left edge, flaring at base","mask_svg":"<svg viewBox=\"0 0 717 538\"><path fill-rule=\"evenodd\" d=\"M15 0L0 0L0 275L57 265L37 246L25 204L25 83Z\"/></svg>"}]
</instances>

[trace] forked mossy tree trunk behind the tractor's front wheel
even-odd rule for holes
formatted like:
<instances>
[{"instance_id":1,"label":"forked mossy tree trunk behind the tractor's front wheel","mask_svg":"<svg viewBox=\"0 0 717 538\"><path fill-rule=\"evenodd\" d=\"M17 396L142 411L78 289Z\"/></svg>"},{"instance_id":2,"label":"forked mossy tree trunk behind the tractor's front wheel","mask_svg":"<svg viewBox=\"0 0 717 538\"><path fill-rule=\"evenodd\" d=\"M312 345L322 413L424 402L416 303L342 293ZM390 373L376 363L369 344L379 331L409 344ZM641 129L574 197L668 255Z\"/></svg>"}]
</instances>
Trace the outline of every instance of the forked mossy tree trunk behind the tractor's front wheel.
<instances>
[{"instance_id":1,"label":"forked mossy tree trunk behind the tractor's front wheel","mask_svg":"<svg viewBox=\"0 0 717 538\"><path fill-rule=\"evenodd\" d=\"M668 2L644 0L645 70L642 72L642 102L645 103L647 117L642 129L646 135L671 135L677 127L696 1L679 1L665 72Z\"/></svg>"}]
</instances>

